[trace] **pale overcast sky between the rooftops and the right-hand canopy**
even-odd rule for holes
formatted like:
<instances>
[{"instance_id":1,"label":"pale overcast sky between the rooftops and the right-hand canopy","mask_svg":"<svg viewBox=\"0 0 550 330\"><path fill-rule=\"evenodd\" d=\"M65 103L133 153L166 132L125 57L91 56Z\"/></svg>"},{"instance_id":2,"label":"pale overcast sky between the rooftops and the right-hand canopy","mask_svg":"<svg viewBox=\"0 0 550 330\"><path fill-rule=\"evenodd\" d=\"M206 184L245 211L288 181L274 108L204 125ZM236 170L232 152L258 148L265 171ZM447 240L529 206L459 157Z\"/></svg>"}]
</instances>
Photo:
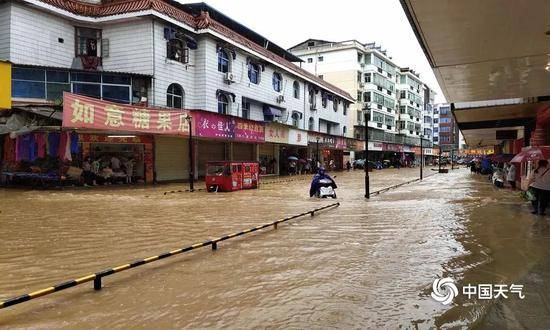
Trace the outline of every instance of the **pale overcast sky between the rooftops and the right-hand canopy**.
<instances>
[{"instance_id":1,"label":"pale overcast sky between the rooftops and the right-hand canopy","mask_svg":"<svg viewBox=\"0 0 550 330\"><path fill-rule=\"evenodd\" d=\"M182 3L198 2L179 0ZM410 67L445 102L399 0L205 0L210 6L283 48L306 39L376 42L401 67Z\"/></svg>"}]
</instances>

